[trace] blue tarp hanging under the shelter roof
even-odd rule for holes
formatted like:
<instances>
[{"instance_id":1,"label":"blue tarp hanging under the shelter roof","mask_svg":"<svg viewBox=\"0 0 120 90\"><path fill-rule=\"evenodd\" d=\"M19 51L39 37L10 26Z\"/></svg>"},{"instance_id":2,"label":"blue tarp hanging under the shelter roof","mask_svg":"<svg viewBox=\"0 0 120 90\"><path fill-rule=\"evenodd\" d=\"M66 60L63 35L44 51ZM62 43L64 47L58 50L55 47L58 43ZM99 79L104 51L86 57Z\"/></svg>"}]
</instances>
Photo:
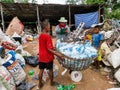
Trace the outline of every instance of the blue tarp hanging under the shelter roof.
<instances>
[{"instance_id":1,"label":"blue tarp hanging under the shelter roof","mask_svg":"<svg viewBox=\"0 0 120 90\"><path fill-rule=\"evenodd\" d=\"M84 22L83 28L90 28L92 24L98 24L98 11L86 14L75 14L75 27L79 25L80 22Z\"/></svg>"}]
</instances>

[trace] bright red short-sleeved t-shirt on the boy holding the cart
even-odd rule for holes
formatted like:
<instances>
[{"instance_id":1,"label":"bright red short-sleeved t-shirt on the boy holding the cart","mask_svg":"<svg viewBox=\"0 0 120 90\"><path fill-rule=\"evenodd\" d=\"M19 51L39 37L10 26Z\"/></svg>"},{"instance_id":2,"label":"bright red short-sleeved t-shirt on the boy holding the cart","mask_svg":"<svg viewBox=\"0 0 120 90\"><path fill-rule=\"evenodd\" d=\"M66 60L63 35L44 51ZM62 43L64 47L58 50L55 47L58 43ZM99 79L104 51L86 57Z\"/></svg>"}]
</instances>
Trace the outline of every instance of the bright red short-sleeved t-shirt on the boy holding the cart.
<instances>
[{"instance_id":1,"label":"bright red short-sleeved t-shirt on the boy holding the cart","mask_svg":"<svg viewBox=\"0 0 120 90\"><path fill-rule=\"evenodd\" d=\"M51 36L48 34L40 34L39 36L39 61L48 63L53 61L54 55L49 52L53 48Z\"/></svg>"}]
</instances>

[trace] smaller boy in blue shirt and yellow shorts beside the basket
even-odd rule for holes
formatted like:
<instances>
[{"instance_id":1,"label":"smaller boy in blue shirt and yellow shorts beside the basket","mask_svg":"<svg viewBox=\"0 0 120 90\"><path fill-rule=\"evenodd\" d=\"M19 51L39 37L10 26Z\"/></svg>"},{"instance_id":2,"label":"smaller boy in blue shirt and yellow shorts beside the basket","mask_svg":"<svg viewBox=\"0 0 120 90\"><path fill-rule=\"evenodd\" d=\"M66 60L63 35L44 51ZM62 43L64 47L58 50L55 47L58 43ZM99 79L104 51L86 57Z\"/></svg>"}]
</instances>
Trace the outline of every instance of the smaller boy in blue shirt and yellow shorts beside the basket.
<instances>
[{"instance_id":1,"label":"smaller boy in blue shirt and yellow shorts beside the basket","mask_svg":"<svg viewBox=\"0 0 120 90\"><path fill-rule=\"evenodd\" d=\"M98 57L95 60L96 69L99 69L100 61L102 60L100 47L103 42L103 34L100 34L99 31L99 25L93 27L92 45L98 50Z\"/></svg>"}]
</instances>

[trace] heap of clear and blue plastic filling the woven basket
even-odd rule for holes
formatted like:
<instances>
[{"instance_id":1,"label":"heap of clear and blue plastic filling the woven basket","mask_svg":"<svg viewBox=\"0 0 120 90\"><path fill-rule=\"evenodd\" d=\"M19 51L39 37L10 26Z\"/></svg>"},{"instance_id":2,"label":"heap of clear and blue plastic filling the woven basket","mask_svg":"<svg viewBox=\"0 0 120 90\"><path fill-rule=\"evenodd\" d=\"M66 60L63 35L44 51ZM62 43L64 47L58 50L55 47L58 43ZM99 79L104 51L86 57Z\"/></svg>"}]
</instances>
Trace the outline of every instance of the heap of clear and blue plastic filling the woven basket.
<instances>
[{"instance_id":1,"label":"heap of clear and blue plastic filling the woven basket","mask_svg":"<svg viewBox=\"0 0 120 90\"><path fill-rule=\"evenodd\" d=\"M97 50L87 41L79 44L79 42L67 43L57 40L56 48L59 52L70 58L85 59L97 56Z\"/></svg>"}]
</instances>

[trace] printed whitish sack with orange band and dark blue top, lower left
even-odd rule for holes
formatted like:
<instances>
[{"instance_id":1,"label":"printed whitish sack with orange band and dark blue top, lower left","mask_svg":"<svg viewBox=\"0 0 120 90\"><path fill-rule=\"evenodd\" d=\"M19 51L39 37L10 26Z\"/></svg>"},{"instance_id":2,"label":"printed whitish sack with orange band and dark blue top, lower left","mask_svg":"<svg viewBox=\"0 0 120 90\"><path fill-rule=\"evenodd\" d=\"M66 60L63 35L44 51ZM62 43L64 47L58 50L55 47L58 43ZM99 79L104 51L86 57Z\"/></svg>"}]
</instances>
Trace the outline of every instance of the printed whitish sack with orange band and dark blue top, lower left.
<instances>
[{"instance_id":1,"label":"printed whitish sack with orange band and dark blue top, lower left","mask_svg":"<svg viewBox=\"0 0 120 90\"><path fill-rule=\"evenodd\" d=\"M16 85L19 85L26 78L26 73L17 60L8 60L3 64L14 78Z\"/></svg>"}]
</instances>

